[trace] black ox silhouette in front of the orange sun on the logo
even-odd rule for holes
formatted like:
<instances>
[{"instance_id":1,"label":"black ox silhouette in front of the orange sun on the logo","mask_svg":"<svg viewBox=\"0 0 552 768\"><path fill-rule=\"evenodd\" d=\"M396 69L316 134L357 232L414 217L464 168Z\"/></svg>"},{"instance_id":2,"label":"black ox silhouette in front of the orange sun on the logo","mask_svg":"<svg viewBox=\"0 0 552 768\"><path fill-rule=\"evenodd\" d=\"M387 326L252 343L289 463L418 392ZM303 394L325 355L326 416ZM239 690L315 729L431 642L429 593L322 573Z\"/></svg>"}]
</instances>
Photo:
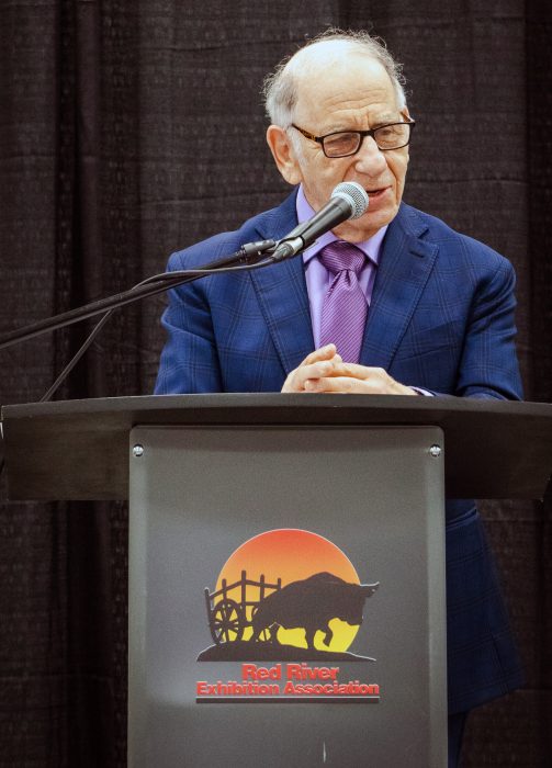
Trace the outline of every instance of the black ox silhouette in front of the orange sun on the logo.
<instances>
[{"instance_id":1,"label":"black ox silhouette in front of the orange sun on the logo","mask_svg":"<svg viewBox=\"0 0 552 768\"><path fill-rule=\"evenodd\" d=\"M326 572L301 581L291 581L259 601L251 617L251 641L258 641L261 632L268 631L270 642L275 643L280 626L286 630L303 628L309 650L314 651L317 630L325 633L324 644L329 646L334 636L329 626L331 619L361 624L364 600L379 586L379 581L349 584Z\"/></svg>"}]
</instances>

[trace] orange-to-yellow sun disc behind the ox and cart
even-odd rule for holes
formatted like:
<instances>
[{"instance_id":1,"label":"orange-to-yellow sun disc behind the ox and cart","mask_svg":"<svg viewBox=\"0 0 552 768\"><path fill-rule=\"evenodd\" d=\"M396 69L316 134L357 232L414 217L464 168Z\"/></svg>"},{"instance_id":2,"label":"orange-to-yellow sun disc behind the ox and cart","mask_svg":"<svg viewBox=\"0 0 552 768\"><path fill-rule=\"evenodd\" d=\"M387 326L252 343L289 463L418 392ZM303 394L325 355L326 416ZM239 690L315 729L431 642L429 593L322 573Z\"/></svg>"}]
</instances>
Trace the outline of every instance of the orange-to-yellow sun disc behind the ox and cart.
<instances>
[{"instance_id":1,"label":"orange-to-yellow sun disc behind the ox and cart","mask_svg":"<svg viewBox=\"0 0 552 768\"><path fill-rule=\"evenodd\" d=\"M330 541L311 531L284 528L260 533L246 541L226 561L218 575L216 591L245 607L248 624L255 606L278 587L327 572L348 581L360 584L359 576L347 555ZM218 598L217 605L223 597ZM215 605L216 611L216 605ZM221 607L222 609L222 607ZM219 610L221 610L219 609ZM224 609L222 609L224 610ZM319 651L345 652L359 630L340 619L331 619L334 633L329 645L324 644L325 632L317 631L314 645ZM249 640L251 626L247 625L243 640ZM278 642L306 648L303 629L278 629Z\"/></svg>"}]
</instances>

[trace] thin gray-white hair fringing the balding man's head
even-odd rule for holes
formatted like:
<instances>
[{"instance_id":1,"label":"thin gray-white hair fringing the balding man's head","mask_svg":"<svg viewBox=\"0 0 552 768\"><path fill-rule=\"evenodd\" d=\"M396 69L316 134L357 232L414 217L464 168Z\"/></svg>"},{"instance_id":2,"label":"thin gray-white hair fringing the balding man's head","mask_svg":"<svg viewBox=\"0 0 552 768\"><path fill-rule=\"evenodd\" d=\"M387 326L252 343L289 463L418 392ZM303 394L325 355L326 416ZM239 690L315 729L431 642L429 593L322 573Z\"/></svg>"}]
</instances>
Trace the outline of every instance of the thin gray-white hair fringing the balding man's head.
<instances>
[{"instance_id":1,"label":"thin gray-white hair fringing the balding man's head","mask_svg":"<svg viewBox=\"0 0 552 768\"><path fill-rule=\"evenodd\" d=\"M306 45L292 56L284 58L274 71L264 78L261 92L264 97L267 115L271 123L280 125L282 128L290 127L293 122L293 110L297 102L297 59L301 64L304 50L308 50L313 45L330 41L342 41L348 44L351 52L364 54L379 61L391 78L399 109L406 106L406 97L403 88L405 83L402 72L403 65L395 61L385 43L380 37L372 36L362 30L349 30L346 32L330 29L309 39Z\"/></svg>"}]
</instances>

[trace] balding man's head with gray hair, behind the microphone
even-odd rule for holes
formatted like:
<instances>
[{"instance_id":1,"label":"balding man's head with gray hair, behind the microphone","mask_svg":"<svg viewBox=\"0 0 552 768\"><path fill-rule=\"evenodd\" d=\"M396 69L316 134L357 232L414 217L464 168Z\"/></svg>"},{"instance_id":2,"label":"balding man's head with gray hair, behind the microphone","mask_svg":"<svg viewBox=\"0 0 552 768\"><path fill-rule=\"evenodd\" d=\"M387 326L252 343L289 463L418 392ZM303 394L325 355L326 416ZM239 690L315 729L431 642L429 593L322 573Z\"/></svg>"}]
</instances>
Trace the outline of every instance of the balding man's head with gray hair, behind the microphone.
<instances>
[{"instance_id":1,"label":"balding man's head with gray hair, behind the microphone","mask_svg":"<svg viewBox=\"0 0 552 768\"><path fill-rule=\"evenodd\" d=\"M302 133L322 137L408 122L401 69L383 45L368 33L326 33L267 78L264 95L272 123L267 140L277 166L291 184L303 183L315 211L341 181L357 181L369 193L367 213L337 227L339 237L359 242L394 218L408 166L407 146L382 151L374 137L364 136L356 154L326 157L329 140L323 148ZM407 137L409 129L404 133ZM380 136L378 142L382 146Z\"/></svg>"}]
</instances>

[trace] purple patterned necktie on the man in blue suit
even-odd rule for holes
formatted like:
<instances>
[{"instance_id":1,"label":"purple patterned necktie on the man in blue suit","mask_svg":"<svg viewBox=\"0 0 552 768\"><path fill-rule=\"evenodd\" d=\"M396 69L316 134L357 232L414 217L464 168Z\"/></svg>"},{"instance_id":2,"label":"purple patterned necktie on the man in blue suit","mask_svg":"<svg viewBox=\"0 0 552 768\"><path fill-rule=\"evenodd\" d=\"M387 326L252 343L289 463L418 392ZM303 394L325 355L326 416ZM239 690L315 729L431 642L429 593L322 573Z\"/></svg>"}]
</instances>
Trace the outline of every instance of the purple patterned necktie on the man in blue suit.
<instances>
[{"instance_id":1,"label":"purple patterned necktie on the man in blue suit","mask_svg":"<svg viewBox=\"0 0 552 768\"><path fill-rule=\"evenodd\" d=\"M335 343L347 363L358 363L368 303L358 273L367 257L350 242L337 240L322 249L319 259L334 276L322 305L320 347Z\"/></svg>"}]
</instances>

